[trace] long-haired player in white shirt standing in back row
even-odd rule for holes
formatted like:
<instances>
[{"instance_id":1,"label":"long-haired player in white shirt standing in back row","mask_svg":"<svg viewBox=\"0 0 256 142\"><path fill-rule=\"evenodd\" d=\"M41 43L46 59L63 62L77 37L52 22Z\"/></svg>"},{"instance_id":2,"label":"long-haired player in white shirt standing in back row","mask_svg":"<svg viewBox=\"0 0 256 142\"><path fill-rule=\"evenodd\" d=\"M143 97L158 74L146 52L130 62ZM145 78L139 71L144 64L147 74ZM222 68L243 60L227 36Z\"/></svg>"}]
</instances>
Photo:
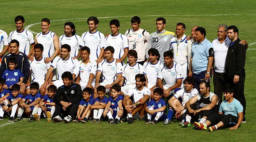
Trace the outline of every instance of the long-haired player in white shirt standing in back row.
<instances>
[{"instance_id":1,"label":"long-haired player in white shirt standing in back row","mask_svg":"<svg viewBox=\"0 0 256 142\"><path fill-rule=\"evenodd\" d=\"M60 47L63 44L68 44L71 47L70 56L78 59L79 54L79 41L80 36L76 35L76 27L72 22L66 22L64 24L64 35L61 35L59 38Z\"/></svg>"}]
</instances>

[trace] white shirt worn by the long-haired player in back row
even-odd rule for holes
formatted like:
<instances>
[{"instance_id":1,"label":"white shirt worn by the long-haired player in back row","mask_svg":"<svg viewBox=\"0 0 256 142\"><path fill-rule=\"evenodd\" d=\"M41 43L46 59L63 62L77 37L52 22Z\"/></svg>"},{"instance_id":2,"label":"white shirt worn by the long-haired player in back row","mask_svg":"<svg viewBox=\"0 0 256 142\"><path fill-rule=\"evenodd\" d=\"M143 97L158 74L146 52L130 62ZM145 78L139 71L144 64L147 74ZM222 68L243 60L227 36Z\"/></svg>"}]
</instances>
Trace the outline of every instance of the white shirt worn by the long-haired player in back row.
<instances>
[{"instance_id":1,"label":"white shirt worn by the long-haired player in back row","mask_svg":"<svg viewBox=\"0 0 256 142\"><path fill-rule=\"evenodd\" d=\"M80 38L81 37L76 34L70 37L67 37L66 35L61 35L59 38L60 49L61 49L61 45L68 44L71 47L70 56L76 57L80 49L80 46L79 46Z\"/></svg>"}]
</instances>

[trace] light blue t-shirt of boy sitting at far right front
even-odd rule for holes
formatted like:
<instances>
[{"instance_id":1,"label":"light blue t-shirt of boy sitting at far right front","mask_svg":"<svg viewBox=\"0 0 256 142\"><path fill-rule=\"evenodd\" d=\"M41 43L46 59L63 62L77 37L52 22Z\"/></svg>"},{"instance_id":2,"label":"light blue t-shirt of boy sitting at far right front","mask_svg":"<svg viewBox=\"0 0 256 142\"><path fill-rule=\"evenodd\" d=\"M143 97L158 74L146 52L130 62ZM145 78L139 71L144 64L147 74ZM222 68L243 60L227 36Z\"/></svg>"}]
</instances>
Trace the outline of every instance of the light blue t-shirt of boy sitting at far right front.
<instances>
[{"instance_id":1,"label":"light blue t-shirt of boy sitting at far right front","mask_svg":"<svg viewBox=\"0 0 256 142\"><path fill-rule=\"evenodd\" d=\"M237 117L238 113L243 112L243 106L235 98L230 104L225 100L219 106L219 112L224 113L224 115L231 114Z\"/></svg>"}]
</instances>

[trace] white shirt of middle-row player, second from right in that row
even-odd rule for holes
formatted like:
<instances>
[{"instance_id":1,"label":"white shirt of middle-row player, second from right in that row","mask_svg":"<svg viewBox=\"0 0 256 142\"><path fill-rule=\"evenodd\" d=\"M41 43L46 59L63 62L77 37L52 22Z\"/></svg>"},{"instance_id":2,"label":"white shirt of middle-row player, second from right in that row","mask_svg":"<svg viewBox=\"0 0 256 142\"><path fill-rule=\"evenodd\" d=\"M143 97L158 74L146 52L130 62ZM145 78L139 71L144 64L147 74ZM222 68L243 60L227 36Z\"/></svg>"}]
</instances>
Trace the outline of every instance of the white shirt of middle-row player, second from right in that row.
<instances>
[{"instance_id":1,"label":"white shirt of middle-row player, second from right in that row","mask_svg":"<svg viewBox=\"0 0 256 142\"><path fill-rule=\"evenodd\" d=\"M162 64L162 62L157 61L157 63L152 64L150 61L144 62L143 65L143 74L147 76L147 87L150 89L152 88L155 84L157 84L157 73L159 66Z\"/></svg>"}]
</instances>

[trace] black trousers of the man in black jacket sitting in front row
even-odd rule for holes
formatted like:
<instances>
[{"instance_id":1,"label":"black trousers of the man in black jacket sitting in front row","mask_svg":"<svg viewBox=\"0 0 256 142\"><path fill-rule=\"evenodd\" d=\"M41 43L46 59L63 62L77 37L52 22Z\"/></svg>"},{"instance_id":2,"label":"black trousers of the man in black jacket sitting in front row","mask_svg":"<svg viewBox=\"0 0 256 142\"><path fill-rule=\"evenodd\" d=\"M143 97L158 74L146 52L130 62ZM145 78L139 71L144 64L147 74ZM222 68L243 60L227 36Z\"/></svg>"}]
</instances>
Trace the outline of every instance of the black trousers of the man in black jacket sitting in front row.
<instances>
[{"instance_id":1,"label":"black trousers of the man in black jacket sitting in front row","mask_svg":"<svg viewBox=\"0 0 256 142\"><path fill-rule=\"evenodd\" d=\"M56 104L56 106L55 106L55 116L57 116L57 115L60 116L60 114L62 113L64 117L70 115L73 118L76 115L78 105L79 105L79 102L77 102L75 104L72 104L66 109L66 111L64 111L62 109L62 105Z\"/></svg>"}]
</instances>

